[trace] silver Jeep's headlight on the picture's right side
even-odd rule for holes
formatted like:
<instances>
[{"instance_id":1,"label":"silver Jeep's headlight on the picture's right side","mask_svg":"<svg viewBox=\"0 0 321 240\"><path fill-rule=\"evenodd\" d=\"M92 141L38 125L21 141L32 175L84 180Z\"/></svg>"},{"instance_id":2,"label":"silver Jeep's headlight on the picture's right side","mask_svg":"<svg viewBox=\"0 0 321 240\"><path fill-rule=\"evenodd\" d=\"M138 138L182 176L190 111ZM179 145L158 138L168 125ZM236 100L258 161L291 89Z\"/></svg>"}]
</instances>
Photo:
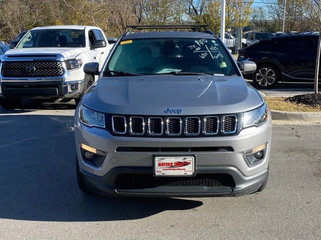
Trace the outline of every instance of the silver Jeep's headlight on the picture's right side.
<instances>
[{"instance_id":1,"label":"silver Jeep's headlight on the picture's right side","mask_svg":"<svg viewBox=\"0 0 321 240\"><path fill-rule=\"evenodd\" d=\"M269 110L266 103L251 111L243 112L243 127L259 126L267 121Z\"/></svg>"}]
</instances>

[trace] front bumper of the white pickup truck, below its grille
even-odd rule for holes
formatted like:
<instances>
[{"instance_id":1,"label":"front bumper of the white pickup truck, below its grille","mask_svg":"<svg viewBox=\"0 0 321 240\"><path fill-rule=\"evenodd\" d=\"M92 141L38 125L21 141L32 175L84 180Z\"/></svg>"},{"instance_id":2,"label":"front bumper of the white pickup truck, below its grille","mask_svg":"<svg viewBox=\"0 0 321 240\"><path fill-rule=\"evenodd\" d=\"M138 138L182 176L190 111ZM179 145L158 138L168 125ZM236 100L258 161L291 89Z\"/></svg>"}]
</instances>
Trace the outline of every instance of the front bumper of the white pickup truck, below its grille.
<instances>
[{"instance_id":1,"label":"front bumper of the white pickup truck, below its grille","mask_svg":"<svg viewBox=\"0 0 321 240\"><path fill-rule=\"evenodd\" d=\"M84 80L0 82L0 97L6 98L67 98L80 94Z\"/></svg>"}]
</instances>

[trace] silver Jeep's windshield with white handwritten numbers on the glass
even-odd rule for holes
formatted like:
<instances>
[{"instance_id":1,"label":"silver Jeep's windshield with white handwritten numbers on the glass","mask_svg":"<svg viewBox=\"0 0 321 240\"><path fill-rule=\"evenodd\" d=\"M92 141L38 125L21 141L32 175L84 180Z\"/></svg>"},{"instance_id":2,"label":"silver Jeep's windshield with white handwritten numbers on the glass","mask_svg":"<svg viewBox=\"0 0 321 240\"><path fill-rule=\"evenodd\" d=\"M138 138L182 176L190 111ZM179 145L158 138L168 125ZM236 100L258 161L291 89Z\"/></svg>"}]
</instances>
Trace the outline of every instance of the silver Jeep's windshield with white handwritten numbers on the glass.
<instances>
[{"instance_id":1,"label":"silver Jeep's windshield with white handwritten numbers on the glass","mask_svg":"<svg viewBox=\"0 0 321 240\"><path fill-rule=\"evenodd\" d=\"M214 38L149 38L123 40L103 74L203 73L235 75L235 64Z\"/></svg>"}]
</instances>

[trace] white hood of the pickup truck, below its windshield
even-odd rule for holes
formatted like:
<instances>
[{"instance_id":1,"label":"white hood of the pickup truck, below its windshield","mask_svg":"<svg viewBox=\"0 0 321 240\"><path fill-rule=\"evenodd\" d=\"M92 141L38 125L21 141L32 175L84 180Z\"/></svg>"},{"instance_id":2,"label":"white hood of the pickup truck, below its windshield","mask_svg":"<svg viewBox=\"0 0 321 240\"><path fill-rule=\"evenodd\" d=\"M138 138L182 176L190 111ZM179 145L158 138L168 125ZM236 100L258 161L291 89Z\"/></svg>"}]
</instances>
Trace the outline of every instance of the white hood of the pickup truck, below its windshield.
<instances>
[{"instance_id":1,"label":"white hood of the pickup truck, below its windshield","mask_svg":"<svg viewBox=\"0 0 321 240\"><path fill-rule=\"evenodd\" d=\"M82 47L28 47L13 48L6 51L6 55L42 55L42 54L61 54L65 59L75 58L84 52Z\"/></svg>"}]
</instances>

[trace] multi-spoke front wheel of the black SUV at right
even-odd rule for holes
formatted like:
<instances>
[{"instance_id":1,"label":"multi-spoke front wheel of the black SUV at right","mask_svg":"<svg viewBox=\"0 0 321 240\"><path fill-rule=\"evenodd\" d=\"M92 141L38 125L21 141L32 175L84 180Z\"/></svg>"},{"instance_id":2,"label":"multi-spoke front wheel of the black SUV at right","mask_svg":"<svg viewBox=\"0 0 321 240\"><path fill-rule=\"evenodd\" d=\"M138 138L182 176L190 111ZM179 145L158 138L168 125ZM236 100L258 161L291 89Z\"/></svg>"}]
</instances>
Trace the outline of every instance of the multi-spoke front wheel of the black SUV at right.
<instances>
[{"instance_id":1,"label":"multi-spoke front wheel of the black SUV at right","mask_svg":"<svg viewBox=\"0 0 321 240\"><path fill-rule=\"evenodd\" d=\"M279 71L272 65L258 65L252 76L253 82L260 88L271 88L279 80Z\"/></svg>"}]
</instances>

